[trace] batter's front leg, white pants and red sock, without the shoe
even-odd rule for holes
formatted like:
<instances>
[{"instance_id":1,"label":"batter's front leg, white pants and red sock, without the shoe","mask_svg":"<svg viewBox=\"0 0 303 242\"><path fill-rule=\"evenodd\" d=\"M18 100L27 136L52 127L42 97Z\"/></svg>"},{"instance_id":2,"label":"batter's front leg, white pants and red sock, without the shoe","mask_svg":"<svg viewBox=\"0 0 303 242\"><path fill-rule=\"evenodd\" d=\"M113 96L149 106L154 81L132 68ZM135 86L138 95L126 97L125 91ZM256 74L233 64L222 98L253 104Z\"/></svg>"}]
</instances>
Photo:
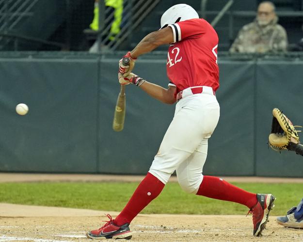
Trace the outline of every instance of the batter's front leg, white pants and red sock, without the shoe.
<instances>
[{"instance_id":1,"label":"batter's front leg, white pants and red sock, without the shoe","mask_svg":"<svg viewBox=\"0 0 303 242\"><path fill-rule=\"evenodd\" d=\"M144 179L139 185L115 223L130 223L159 195L171 174L194 152L205 133L213 132L219 120L219 109L215 96L210 95L187 98L176 105L174 119L145 178L147 181Z\"/></svg>"}]
</instances>

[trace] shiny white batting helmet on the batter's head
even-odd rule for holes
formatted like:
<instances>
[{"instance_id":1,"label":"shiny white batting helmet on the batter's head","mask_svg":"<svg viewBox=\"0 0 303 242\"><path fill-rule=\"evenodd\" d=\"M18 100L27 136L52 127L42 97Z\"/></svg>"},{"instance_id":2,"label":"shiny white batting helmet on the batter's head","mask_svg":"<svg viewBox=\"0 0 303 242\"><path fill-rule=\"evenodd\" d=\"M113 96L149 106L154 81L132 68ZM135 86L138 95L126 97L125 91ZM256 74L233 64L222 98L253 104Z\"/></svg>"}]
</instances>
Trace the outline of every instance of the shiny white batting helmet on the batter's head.
<instances>
[{"instance_id":1,"label":"shiny white batting helmet on the batter's head","mask_svg":"<svg viewBox=\"0 0 303 242\"><path fill-rule=\"evenodd\" d=\"M161 29L169 24L175 24L191 18L199 18L199 15L190 5L184 3L176 4L167 9L161 16Z\"/></svg>"}]
</instances>

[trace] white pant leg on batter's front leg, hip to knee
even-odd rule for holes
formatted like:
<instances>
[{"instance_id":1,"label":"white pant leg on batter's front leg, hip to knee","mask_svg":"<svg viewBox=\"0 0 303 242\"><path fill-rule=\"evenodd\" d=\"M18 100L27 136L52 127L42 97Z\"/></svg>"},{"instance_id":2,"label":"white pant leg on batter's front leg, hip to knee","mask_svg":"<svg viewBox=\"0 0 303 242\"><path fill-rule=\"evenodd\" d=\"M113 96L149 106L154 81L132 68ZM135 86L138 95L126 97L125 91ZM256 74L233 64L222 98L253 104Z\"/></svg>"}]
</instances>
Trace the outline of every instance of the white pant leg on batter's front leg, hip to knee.
<instances>
[{"instance_id":1,"label":"white pant leg on batter's front leg, hip to knee","mask_svg":"<svg viewBox=\"0 0 303 242\"><path fill-rule=\"evenodd\" d=\"M175 169L214 131L220 116L215 96L193 95L181 99L172 123L149 172L166 183Z\"/></svg>"}]
</instances>

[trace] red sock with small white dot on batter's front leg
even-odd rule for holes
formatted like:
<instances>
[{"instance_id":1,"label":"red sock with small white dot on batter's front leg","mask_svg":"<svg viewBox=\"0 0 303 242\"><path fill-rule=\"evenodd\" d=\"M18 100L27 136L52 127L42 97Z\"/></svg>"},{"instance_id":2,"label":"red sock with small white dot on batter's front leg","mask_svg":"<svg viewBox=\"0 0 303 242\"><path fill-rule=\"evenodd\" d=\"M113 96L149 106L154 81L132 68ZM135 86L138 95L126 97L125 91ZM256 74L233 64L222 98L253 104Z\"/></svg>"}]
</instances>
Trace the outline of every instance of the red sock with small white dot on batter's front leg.
<instances>
[{"instance_id":1,"label":"red sock with small white dot on batter's front leg","mask_svg":"<svg viewBox=\"0 0 303 242\"><path fill-rule=\"evenodd\" d=\"M114 219L113 223L117 226L130 224L134 217L137 216L154 198L161 193L164 184L155 176L147 173L141 181L136 191L129 199L128 204Z\"/></svg>"}]
</instances>

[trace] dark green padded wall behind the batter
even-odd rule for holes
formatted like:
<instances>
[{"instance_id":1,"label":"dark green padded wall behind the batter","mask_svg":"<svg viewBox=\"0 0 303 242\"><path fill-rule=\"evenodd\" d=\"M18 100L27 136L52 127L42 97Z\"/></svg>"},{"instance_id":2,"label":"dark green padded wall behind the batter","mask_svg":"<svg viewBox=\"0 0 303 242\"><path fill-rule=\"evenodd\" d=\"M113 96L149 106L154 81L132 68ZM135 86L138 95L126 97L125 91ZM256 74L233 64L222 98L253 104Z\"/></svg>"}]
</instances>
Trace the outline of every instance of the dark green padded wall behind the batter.
<instances>
[{"instance_id":1,"label":"dark green padded wall behind the batter","mask_svg":"<svg viewBox=\"0 0 303 242\"><path fill-rule=\"evenodd\" d=\"M120 55L45 53L0 58L0 171L145 174L172 120L174 105L127 87L122 132L112 130ZM165 55L137 61L135 73L167 86ZM205 174L303 177L303 157L268 149L271 110L296 125L303 61L218 60L221 105ZM148 68L146 68L148 66ZM26 116L15 112L26 103Z\"/></svg>"}]
</instances>

